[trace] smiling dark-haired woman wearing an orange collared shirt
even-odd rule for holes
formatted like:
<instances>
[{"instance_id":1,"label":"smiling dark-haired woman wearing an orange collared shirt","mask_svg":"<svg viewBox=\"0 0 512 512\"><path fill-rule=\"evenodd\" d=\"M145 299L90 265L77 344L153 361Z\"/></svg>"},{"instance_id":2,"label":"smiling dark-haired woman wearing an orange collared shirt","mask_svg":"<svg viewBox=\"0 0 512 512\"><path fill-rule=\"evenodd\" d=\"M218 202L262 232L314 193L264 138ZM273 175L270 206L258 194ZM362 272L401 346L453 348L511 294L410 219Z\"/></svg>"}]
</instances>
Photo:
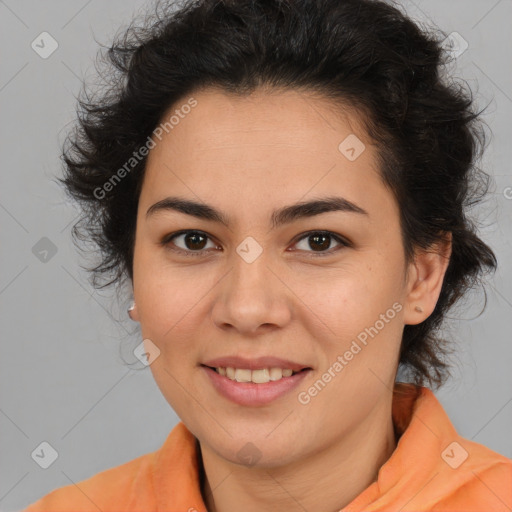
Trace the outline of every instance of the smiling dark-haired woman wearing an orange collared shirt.
<instances>
[{"instance_id":1,"label":"smiling dark-haired woman wearing an orange collared shirt","mask_svg":"<svg viewBox=\"0 0 512 512\"><path fill-rule=\"evenodd\" d=\"M441 39L376 0L200 0L109 56L63 182L182 421L26 510L510 510L512 461L427 387L496 266Z\"/></svg>"}]
</instances>

